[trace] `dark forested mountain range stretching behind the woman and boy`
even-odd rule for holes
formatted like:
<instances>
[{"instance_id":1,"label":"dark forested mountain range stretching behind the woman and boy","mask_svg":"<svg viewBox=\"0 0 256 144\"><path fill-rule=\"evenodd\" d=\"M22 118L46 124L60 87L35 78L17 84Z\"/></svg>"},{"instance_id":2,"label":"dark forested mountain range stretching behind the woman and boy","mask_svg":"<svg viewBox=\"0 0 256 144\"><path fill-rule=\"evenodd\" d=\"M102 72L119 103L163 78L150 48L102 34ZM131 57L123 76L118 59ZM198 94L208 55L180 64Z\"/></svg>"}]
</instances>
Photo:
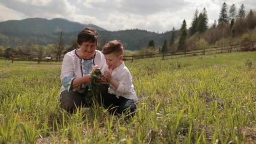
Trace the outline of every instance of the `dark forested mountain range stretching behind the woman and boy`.
<instances>
[{"instance_id":1,"label":"dark forested mountain range stretching behind the woman and boy","mask_svg":"<svg viewBox=\"0 0 256 144\"><path fill-rule=\"evenodd\" d=\"M76 40L77 34L85 27L93 27L99 34L98 43L109 40L121 40L125 49L140 50L147 47L149 40L154 40L155 46L163 45L164 40L169 41L171 32L156 33L141 29L127 29L108 31L94 24L80 24L66 19L29 18L23 20L9 20L0 22L0 45L15 47L19 45L58 43L60 32L66 45ZM171 28L170 28L171 29ZM178 35L179 31L176 31Z\"/></svg>"}]
</instances>

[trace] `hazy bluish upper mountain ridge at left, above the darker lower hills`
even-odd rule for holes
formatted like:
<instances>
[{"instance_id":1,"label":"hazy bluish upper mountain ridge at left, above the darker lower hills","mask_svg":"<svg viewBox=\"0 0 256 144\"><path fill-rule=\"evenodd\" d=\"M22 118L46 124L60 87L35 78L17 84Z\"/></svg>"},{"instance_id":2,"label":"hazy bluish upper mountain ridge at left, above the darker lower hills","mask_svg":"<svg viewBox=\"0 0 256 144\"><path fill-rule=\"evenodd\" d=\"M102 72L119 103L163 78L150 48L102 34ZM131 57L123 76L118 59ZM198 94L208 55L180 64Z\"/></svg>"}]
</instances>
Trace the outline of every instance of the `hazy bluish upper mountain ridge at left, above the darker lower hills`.
<instances>
[{"instance_id":1,"label":"hazy bluish upper mountain ridge at left, above the darker lower hills","mask_svg":"<svg viewBox=\"0 0 256 144\"><path fill-rule=\"evenodd\" d=\"M22 34L51 34L53 32L74 32L84 27L94 27L97 30L106 30L93 24L80 24L66 19L29 18L0 22L0 32Z\"/></svg>"}]
</instances>

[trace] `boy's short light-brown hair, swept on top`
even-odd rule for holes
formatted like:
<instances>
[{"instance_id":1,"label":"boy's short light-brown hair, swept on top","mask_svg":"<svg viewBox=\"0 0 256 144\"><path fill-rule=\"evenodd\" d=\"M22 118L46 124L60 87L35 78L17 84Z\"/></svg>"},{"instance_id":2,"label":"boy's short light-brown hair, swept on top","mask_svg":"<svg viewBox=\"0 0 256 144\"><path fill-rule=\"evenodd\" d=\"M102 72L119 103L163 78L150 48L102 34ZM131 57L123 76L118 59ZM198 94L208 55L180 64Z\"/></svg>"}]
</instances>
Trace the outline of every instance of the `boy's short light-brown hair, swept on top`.
<instances>
[{"instance_id":1,"label":"boy's short light-brown hair, swept on top","mask_svg":"<svg viewBox=\"0 0 256 144\"><path fill-rule=\"evenodd\" d=\"M101 52L103 54L115 53L117 56L120 56L120 55L123 55L123 45L118 40L112 40L103 46Z\"/></svg>"}]
</instances>

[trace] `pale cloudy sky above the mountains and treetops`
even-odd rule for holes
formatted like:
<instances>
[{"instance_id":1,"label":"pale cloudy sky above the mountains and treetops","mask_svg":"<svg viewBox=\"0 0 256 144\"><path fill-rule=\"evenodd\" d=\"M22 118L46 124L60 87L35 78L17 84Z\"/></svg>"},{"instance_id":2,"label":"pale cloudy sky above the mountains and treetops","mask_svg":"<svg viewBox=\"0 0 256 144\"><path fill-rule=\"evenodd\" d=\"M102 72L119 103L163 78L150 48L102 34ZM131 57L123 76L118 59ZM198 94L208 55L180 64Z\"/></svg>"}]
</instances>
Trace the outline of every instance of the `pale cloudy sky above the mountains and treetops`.
<instances>
[{"instance_id":1,"label":"pale cloudy sky above the mountains and treetops","mask_svg":"<svg viewBox=\"0 0 256 144\"><path fill-rule=\"evenodd\" d=\"M195 10L205 7L208 25L218 21L221 5L232 4L237 11L256 10L256 0L0 0L0 21L26 18L63 18L95 24L110 31L145 29L152 32L179 29L185 19L190 27Z\"/></svg>"}]
</instances>

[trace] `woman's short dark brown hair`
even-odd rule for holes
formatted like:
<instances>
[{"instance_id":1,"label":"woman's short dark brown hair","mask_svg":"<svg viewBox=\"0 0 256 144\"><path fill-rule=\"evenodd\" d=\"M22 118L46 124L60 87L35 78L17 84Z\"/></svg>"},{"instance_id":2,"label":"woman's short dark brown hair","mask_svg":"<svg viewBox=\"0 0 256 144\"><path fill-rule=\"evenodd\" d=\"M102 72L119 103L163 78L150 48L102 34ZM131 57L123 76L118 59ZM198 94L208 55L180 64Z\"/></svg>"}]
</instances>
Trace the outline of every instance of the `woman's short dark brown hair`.
<instances>
[{"instance_id":1,"label":"woman's short dark brown hair","mask_svg":"<svg viewBox=\"0 0 256 144\"><path fill-rule=\"evenodd\" d=\"M97 39L98 33L92 27L85 27L85 29L77 35L78 45L81 45L83 42L96 42L97 44Z\"/></svg>"}]
</instances>

